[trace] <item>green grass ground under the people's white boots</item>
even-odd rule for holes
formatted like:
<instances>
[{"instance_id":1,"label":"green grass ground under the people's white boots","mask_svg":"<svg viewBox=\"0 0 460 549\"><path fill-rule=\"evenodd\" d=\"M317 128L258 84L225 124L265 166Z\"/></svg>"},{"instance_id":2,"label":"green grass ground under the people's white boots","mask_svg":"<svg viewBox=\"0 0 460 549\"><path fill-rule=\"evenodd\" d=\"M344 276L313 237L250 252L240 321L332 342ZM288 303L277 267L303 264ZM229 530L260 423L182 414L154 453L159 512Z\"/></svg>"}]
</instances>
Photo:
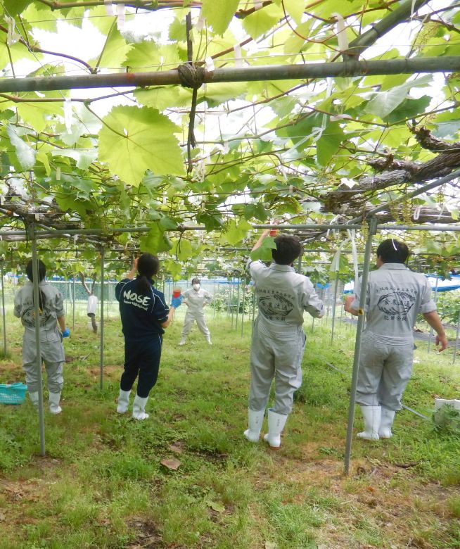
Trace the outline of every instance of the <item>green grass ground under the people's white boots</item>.
<instances>
[{"instance_id":1,"label":"green grass ground under the people's white boots","mask_svg":"<svg viewBox=\"0 0 460 549\"><path fill-rule=\"evenodd\" d=\"M331 343L326 322L313 333L305 324L304 382L273 451L242 436L249 323L243 337L225 316L210 314L209 324L212 347L196 329L177 346L180 318L167 330L151 417L135 422L115 412L116 315L106 323L102 391L99 339L78 317L65 341L63 413L46 412L45 457L28 400L0 405L1 549L460 548L460 438L402 411L390 440L354 439L343 475L354 327L338 324ZM0 381L23 380L21 336L8 317ZM418 346L404 402L430 415L435 396L459 397L460 361Z\"/></svg>"}]
</instances>

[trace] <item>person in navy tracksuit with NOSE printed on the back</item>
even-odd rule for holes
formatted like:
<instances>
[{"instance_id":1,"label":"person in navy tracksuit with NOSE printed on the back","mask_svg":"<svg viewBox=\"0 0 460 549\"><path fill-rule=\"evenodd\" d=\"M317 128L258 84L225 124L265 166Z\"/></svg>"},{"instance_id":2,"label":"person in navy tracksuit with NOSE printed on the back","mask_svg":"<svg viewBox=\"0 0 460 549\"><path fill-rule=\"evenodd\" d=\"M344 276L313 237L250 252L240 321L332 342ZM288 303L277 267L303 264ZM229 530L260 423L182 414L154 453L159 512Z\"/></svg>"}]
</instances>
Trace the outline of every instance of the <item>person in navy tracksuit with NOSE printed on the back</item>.
<instances>
[{"instance_id":1,"label":"person in navy tracksuit with NOSE printed on the back","mask_svg":"<svg viewBox=\"0 0 460 549\"><path fill-rule=\"evenodd\" d=\"M129 393L139 375L132 410L134 419L148 418L146 403L158 378L163 328L169 326L174 310L181 304L180 297L172 298L171 307L168 307L164 294L153 286L153 277L159 266L155 255L143 253L134 260L127 278L115 287L124 335L124 372L120 380L117 412L127 412ZM136 271L139 274L134 279Z\"/></svg>"}]
</instances>

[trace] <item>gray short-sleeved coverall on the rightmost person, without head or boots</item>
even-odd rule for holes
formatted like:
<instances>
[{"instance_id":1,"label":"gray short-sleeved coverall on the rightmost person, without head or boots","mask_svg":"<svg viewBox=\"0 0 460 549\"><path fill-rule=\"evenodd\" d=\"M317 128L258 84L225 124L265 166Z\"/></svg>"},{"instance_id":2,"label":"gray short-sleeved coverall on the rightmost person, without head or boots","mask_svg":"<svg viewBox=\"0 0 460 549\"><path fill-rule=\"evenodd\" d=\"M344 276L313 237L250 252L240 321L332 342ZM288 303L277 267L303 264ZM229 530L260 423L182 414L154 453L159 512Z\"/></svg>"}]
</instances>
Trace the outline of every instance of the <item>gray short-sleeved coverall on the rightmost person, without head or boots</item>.
<instances>
[{"instance_id":1,"label":"gray short-sleeved coverall on the rightmost person, without head or boots","mask_svg":"<svg viewBox=\"0 0 460 549\"><path fill-rule=\"evenodd\" d=\"M361 279L351 307L359 309ZM436 310L431 286L423 274L402 263L384 263L369 273L356 401L401 410L401 397L411 377L414 325L418 313Z\"/></svg>"}]
</instances>

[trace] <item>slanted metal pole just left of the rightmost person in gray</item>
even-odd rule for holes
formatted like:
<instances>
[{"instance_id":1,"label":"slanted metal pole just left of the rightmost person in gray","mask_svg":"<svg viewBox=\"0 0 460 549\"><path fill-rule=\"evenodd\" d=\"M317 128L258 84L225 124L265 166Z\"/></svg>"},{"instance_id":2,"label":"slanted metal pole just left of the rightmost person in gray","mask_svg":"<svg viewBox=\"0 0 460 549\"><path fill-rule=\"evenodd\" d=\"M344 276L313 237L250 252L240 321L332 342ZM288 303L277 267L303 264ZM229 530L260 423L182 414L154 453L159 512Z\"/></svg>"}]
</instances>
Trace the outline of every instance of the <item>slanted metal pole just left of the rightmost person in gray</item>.
<instances>
[{"instance_id":1,"label":"slanted metal pole just left of the rightmost person in gray","mask_svg":"<svg viewBox=\"0 0 460 549\"><path fill-rule=\"evenodd\" d=\"M362 270L361 291L359 294L359 315L356 329L356 340L354 342L354 358L352 372L352 386L350 389L350 405L348 408L347 440L345 445L345 474L350 472L350 456L352 453L352 436L354 420L354 403L356 402L356 388L358 382L359 355L361 354L362 329L364 327L364 304L366 303L367 281L369 279L369 265L371 263L372 238L376 234L377 221L371 217L369 222L369 234L366 239L366 248L364 251L364 264Z\"/></svg>"}]
</instances>

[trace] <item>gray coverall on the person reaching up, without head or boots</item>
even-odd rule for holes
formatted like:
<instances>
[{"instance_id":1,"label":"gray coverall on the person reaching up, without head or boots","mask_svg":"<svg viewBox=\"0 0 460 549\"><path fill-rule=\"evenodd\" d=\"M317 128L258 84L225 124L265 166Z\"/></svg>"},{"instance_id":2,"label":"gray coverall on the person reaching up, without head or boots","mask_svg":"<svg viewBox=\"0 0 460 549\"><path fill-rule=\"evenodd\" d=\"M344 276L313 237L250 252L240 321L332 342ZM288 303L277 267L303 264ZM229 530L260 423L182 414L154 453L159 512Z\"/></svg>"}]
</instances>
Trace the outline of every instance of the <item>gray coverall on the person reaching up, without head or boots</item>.
<instances>
[{"instance_id":1,"label":"gray coverall on the person reaching up, without head or boots","mask_svg":"<svg viewBox=\"0 0 460 549\"><path fill-rule=\"evenodd\" d=\"M302 357L305 333L303 313L324 315L324 305L312 282L289 265L262 261L248 262L255 284L259 313L253 329L250 352L251 383L249 408L264 410L275 379L275 403L272 410L289 415L294 391L302 384Z\"/></svg>"}]
</instances>

